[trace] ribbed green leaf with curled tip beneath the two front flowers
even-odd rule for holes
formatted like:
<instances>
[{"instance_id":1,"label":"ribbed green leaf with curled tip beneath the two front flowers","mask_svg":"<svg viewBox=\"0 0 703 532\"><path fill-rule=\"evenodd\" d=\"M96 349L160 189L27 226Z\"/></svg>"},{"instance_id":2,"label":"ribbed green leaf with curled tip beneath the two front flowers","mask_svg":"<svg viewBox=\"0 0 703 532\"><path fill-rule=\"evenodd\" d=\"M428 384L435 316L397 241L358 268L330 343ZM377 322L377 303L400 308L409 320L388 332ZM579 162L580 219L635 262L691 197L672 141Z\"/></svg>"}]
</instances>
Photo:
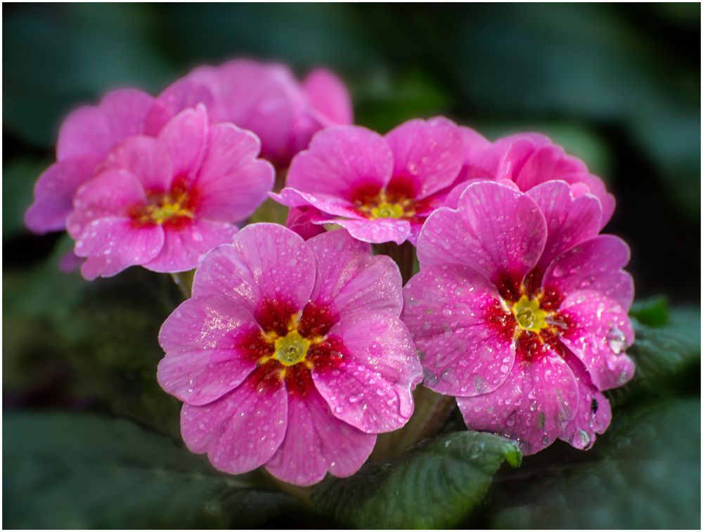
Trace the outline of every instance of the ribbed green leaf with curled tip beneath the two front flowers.
<instances>
[{"instance_id":1,"label":"ribbed green leaf with curled tip beneath the two front flowers","mask_svg":"<svg viewBox=\"0 0 703 532\"><path fill-rule=\"evenodd\" d=\"M493 434L457 432L420 443L391 462L370 463L313 492L318 512L356 528L443 528L463 519L517 444Z\"/></svg>"}]
</instances>

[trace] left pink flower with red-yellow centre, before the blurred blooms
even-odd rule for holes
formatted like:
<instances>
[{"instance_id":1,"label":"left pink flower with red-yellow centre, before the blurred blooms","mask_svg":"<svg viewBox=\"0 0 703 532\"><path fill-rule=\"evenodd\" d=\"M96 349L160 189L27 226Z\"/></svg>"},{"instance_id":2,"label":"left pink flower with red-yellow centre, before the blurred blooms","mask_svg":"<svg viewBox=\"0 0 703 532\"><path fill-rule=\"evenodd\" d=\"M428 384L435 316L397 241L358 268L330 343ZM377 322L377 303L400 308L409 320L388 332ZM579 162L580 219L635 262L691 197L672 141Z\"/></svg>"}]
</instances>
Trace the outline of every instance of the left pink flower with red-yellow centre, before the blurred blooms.
<instances>
[{"instance_id":1,"label":"left pink flower with red-yellow centre, before the blurred blooms","mask_svg":"<svg viewBox=\"0 0 703 532\"><path fill-rule=\"evenodd\" d=\"M117 145L73 200L67 230L85 257L86 279L141 264L160 272L195 268L231 242L273 186L273 167L257 159L259 139L232 124L209 126L207 111L185 110L157 138Z\"/></svg>"}]
</instances>

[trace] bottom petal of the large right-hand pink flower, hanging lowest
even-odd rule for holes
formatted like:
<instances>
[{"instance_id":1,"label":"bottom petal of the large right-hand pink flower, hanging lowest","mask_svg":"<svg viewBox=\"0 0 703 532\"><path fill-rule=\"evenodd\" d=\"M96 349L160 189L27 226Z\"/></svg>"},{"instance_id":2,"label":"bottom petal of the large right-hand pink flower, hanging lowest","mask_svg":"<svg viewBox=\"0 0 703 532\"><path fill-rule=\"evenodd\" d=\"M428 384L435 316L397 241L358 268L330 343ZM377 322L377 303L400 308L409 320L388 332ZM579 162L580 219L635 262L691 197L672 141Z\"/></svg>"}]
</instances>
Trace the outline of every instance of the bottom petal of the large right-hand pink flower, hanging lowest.
<instances>
[{"instance_id":1,"label":"bottom petal of the large right-hand pink flower, hanging lowest","mask_svg":"<svg viewBox=\"0 0 703 532\"><path fill-rule=\"evenodd\" d=\"M517 358L500 388L456 398L467 429L518 440L525 455L546 448L561 436L576 415L578 401L576 378L556 353L536 360Z\"/></svg>"}]
</instances>

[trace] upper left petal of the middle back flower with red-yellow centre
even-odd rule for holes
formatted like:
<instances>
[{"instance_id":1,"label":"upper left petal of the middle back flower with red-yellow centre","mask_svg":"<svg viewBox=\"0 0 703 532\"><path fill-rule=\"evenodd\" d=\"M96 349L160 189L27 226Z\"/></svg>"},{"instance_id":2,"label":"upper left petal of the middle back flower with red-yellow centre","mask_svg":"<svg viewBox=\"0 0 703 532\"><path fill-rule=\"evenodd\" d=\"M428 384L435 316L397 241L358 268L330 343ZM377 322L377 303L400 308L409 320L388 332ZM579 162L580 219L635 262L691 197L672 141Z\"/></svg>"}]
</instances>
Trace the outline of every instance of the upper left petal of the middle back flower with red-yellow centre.
<instances>
[{"instance_id":1,"label":"upper left petal of the middle back flower with red-yellow centre","mask_svg":"<svg viewBox=\"0 0 703 532\"><path fill-rule=\"evenodd\" d=\"M361 126L334 126L317 133L292 160L285 184L350 199L360 187L382 188L392 171L393 154L385 138Z\"/></svg>"}]
</instances>

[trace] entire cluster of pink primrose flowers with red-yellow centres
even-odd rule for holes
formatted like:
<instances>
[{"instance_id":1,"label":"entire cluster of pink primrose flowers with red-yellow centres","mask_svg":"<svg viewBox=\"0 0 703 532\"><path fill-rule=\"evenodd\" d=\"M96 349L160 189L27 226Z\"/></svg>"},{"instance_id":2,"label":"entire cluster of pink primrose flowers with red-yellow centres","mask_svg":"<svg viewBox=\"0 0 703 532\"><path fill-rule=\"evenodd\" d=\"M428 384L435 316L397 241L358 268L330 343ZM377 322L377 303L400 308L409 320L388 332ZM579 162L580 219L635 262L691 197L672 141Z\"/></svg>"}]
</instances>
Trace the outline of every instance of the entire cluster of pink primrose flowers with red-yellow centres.
<instances>
[{"instance_id":1,"label":"entire cluster of pink primrose flowers with red-yellow centres","mask_svg":"<svg viewBox=\"0 0 703 532\"><path fill-rule=\"evenodd\" d=\"M240 230L268 195L287 227ZM434 117L382 136L352 125L334 74L234 60L72 112L26 221L65 228L87 279L196 268L157 368L186 446L308 486L404 429L420 382L526 454L592 446L603 392L634 372L629 249L601 233L614 207L540 134Z\"/></svg>"}]
</instances>

